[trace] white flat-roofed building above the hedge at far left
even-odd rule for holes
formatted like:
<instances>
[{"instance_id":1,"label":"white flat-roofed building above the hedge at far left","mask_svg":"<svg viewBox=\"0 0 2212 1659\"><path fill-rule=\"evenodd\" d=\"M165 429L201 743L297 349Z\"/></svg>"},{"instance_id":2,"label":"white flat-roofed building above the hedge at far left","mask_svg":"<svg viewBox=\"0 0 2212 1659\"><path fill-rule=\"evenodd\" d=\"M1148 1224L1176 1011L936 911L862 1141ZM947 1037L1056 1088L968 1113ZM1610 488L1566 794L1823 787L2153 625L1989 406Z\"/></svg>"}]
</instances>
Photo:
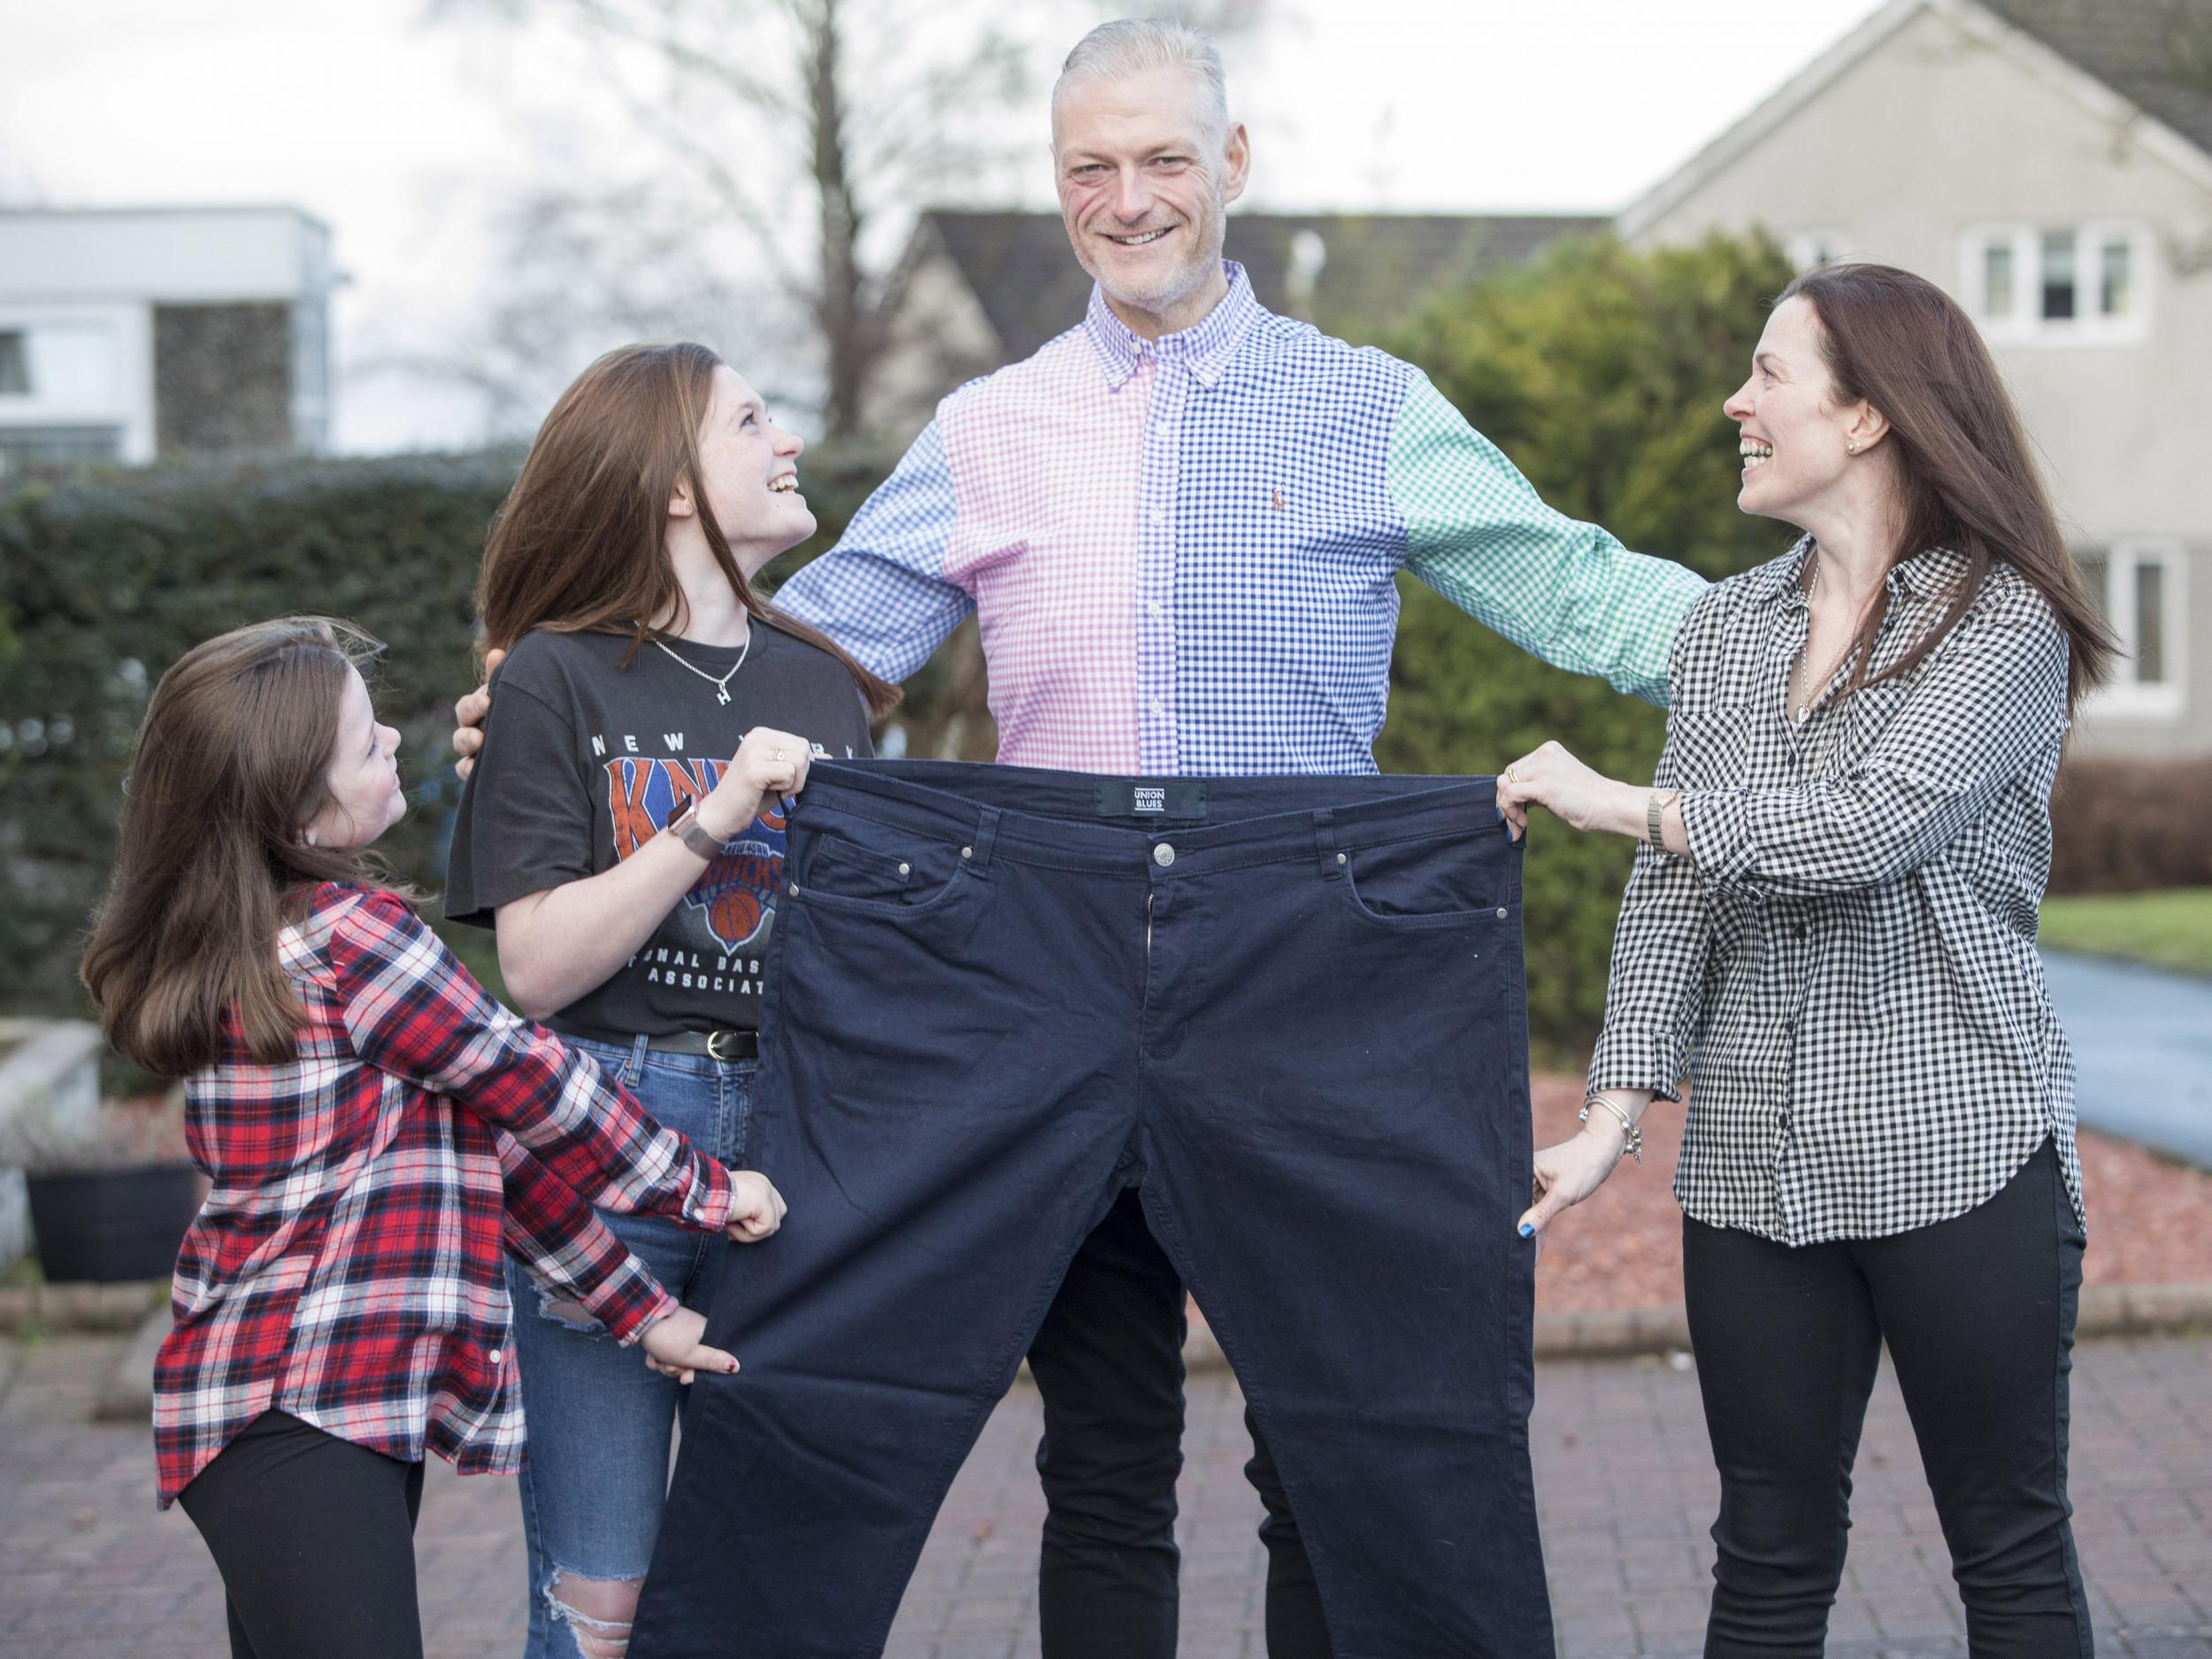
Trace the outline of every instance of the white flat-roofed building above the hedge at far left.
<instances>
[{"instance_id":1,"label":"white flat-roofed building above the hedge at far left","mask_svg":"<svg viewBox=\"0 0 2212 1659\"><path fill-rule=\"evenodd\" d=\"M330 228L299 208L0 212L0 484L330 438Z\"/></svg>"}]
</instances>

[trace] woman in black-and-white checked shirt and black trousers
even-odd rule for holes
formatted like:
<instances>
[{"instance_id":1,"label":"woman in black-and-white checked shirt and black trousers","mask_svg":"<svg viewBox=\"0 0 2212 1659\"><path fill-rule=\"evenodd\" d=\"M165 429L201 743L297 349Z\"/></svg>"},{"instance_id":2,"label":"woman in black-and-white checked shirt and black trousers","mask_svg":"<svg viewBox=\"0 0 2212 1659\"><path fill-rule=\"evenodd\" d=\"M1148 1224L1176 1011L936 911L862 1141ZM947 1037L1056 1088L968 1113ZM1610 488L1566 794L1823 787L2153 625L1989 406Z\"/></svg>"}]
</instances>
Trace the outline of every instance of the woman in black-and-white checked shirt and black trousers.
<instances>
[{"instance_id":1,"label":"woman in black-and-white checked shirt and black trousers","mask_svg":"<svg viewBox=\"0 0 2212 1659\"><path fill-rule=\"evenodd\" d=\"M2090 1650L2066 1502L2073 1057L2035 916L2051 783L2110 639L1973 323L1840 265L1728 400L1747 513L1805 538L1674 644L1657 790L1557 743L1500 805L1644 843L1586 1130L1522 1232L1694 1088L1674 1194L1721 1471L1705 1652L1818 1655L1882 1343L1982 1659Z\"/></svg>"}]
</instances>

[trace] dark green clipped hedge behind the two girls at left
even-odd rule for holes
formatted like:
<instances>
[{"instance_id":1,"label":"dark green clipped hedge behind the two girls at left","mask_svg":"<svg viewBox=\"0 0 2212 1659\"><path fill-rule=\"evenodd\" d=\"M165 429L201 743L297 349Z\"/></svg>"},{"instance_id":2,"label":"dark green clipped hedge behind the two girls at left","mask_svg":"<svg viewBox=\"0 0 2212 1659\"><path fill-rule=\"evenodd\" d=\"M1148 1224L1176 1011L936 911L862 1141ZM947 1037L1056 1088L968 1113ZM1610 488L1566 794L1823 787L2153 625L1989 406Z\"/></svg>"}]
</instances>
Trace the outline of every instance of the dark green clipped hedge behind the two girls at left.
<instances>
[{"instance_id":1,"label":"dark green clipped hedge behind the two girls at left","mask_svg":"<svg viewBox=\"0 0 2212 1659\"><path fill-rule=\"evenodd\" d=\"M471 681L476 566L520 451L108 471L0 500L0 1006L80 1011L75 958L115 856L146 695L192 644L288 611L387 641L383 714L414 803L380 847L445 876L460 783L451 703ZM810 456L827 546L887 471ZM787 566L796 568L796 566ZM916 688L927 719L931 684Z\"/></svg>"}]
</instances>

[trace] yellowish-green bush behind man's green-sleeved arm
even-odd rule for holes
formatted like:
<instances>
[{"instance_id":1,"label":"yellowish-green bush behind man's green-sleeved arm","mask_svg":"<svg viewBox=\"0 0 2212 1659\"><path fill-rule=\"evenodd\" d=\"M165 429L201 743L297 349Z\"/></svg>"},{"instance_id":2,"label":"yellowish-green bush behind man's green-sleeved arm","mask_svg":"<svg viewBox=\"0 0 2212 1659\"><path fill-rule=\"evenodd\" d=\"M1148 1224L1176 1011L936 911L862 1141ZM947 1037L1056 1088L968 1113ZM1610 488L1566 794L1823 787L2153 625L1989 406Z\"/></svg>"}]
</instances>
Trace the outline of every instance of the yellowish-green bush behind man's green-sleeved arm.
<instances>
[{"instance_id":1,"label":"yellowish-green bush behind man's green-sleeved arm","mask_svg":"<svg viewBox=\"0 0 2212 1659\"><path fill-rule=\"evenodd\" d=\"M1385 343L1553 507L1721 577L1794 540L1736 511L1736 427L1721 414L1787 281L1770 241L1657 254L1579 241L1442 296ZM1400 588L1385 772L1498 772L1555 737L1608 776L1652 774L1661 710L1546 668L1416 582ZM1544 814L1531 825L1528 1029L1546 1060L1571 1064L1595 1040L1630 854Z\"/></svg>"}]
</instances>

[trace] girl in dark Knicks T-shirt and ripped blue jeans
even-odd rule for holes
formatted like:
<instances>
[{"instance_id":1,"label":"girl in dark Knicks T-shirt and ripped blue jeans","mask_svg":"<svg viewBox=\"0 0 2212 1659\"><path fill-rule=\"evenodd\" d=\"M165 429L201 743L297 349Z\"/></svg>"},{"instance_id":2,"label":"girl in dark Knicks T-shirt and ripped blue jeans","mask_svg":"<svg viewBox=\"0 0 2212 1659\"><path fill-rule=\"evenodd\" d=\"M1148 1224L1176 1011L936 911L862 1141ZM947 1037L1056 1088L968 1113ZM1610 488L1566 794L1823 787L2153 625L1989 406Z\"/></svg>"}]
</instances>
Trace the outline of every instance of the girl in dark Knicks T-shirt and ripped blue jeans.
<instances>
[{"instance_id":1,"label":"girl in dark Knicks T-shirt and ripped blue jeans","mask_svg":"<svg viewBox=\"0 0 2212 1659\"><path fill-rule=\"evenodd\" d=\"M814 533L799 440L701 345L633 345L553 405L478 580L504 653L453 834L447 914L498 929L515 1004L734 1159L783 869L776 794L867 754L896 690L752 591ZM688 1301L719 1250L615 1232ZM520 1285L518 1285L520 1296ZM677 1389L588 1310L533 1303L522 1475L531 1659L617 1659L653 1559Z\"/></svg>"}]
</instances>

